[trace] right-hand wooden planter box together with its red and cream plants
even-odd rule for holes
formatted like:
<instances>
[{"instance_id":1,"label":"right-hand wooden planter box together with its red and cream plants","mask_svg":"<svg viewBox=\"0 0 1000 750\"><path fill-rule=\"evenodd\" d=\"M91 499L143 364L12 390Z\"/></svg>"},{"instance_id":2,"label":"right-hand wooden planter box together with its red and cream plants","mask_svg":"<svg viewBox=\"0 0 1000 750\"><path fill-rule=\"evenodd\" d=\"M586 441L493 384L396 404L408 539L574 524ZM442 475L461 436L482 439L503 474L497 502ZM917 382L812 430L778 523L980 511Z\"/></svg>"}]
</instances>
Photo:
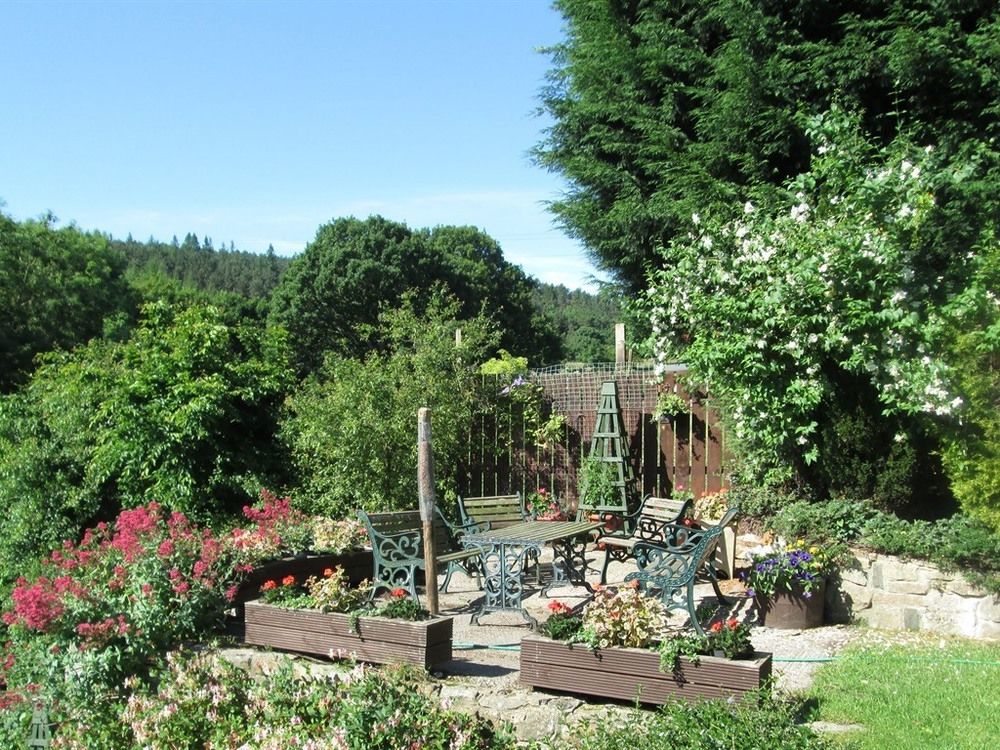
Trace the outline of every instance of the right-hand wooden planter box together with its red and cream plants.
<instances>
[{"instance_id":1,"label":"right-hand wooden planter box together with its red and cream plants","mask_svg":"<svg viewBox=\"0 0 1000 750\"><path fill-rule=\"evenodd\" d=\"M582 613L549 607L541 633L521 640L525 685L662 704L740 696L771 675L771 655L753 651L746 624L712 625L704 637L679 632L659 599L631 586L598 588Z\"/></svg>"}]
</instances>

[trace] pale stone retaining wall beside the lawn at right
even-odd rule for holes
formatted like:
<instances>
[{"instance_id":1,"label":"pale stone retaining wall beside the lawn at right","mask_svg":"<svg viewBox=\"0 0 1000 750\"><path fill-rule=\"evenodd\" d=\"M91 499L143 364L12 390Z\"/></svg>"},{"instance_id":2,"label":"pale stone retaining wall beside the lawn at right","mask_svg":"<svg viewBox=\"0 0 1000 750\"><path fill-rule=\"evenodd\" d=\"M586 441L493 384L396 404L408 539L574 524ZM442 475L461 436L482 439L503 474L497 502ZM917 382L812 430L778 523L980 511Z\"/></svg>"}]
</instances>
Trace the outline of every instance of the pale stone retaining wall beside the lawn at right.
<instances>
[{"instance_id":1,"label":"pale stone retaining wall beside the lawn at right","mask_svg":"<svg viewBox=\"0 0 1000 750\"><path fill-rule=\"evenodd\" d=\"M961 573L892 555L853 554L854 564L827 588L828 621L1000 640L1000 598L971 586Z\"/></svg>"}]
</instances>

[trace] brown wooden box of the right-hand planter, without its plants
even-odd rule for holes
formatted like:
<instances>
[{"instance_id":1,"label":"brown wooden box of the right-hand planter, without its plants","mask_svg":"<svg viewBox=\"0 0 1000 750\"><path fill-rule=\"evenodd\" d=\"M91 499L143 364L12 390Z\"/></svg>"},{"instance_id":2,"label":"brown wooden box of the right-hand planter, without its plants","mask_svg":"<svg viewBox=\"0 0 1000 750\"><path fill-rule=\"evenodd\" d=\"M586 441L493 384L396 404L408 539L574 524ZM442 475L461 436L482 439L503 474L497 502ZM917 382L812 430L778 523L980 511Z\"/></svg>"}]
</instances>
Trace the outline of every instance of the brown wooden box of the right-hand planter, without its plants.
<instances>
[{"instance_id":1,"label":"brown wooden box of the right-hand planter, without its plants","mask_svg":"<svg viewBox=\"0 0 1000 750\"><path fill-rule=\"evenodd\" d=\"M545 690L660 705L675 698L726 698L757 690L771 676L771 654L753 659L680 658L676 672L660 671L656 651L587 646L527 635L521 639L521 684Z\"/></svg>"}]
</instances>

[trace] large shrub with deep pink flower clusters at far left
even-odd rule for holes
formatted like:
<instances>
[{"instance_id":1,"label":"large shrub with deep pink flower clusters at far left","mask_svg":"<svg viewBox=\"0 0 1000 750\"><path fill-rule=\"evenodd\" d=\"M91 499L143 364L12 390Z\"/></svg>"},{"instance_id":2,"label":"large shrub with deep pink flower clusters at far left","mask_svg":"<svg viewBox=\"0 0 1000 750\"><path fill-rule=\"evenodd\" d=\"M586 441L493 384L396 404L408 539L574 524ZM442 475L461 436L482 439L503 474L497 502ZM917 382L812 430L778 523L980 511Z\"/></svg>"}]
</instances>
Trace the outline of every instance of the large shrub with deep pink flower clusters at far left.
<instances>
[{"instance_id":1,"label":"large shrub with deep pink flower clusters at far left","mask_svg":"<svg viewBox=\"0 0 1000 750\"><path fill-rule=\"evenodd\" d=\"M65 542L3 612L0 682L89 689L140 673L165 650L221 622L234 575L208 529L156 503ZM60 677L61 676L61 677Z\"/></svg>"}]
</instances>

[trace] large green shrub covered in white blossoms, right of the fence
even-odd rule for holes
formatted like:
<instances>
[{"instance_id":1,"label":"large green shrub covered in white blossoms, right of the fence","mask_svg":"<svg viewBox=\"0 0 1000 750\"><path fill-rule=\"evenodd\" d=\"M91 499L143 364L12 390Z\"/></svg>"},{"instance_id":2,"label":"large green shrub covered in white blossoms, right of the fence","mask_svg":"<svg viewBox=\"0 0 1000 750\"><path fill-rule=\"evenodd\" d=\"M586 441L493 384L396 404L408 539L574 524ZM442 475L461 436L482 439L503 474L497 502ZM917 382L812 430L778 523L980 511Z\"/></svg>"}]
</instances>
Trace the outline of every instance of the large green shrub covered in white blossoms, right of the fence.
<instances>
[{"instance_id":1,"label":"large green shrub covered in white blossoms, right of the fence","mask_svg":"<svg viewBox=\"0 0 1000 750\"><path fill-rule=\"evenodd\" d=\"M693 379L711 383L750 476L774 481L798 468L815 483L808 467L821 448L827 458L840 453L837 421L851 437L858 408L881 411L900 429L961 406L942 356L941 308L966 288L967 256L956 248L942 275L943 248L928 237L955 221L950 186L982 167L941 164L933 149L905 144L873 155L840 110L811 120L808 133L812 168L788 198L694 215L687 238L664 250L650 299L659 361L682 359ZM844 408L847 394L865 389L877 398ZM877 445L892 458L892 444L908 439L900 429ZM851 448L864 449L872 446ZM901 478L913 486L914 459L903 451L884 463L866 470L860 487L902 502L889 488ZM836 468L852 473L847 462ZM833 489L858 489L830 477L827 470Z\"/></svg>"}]
</instances>

